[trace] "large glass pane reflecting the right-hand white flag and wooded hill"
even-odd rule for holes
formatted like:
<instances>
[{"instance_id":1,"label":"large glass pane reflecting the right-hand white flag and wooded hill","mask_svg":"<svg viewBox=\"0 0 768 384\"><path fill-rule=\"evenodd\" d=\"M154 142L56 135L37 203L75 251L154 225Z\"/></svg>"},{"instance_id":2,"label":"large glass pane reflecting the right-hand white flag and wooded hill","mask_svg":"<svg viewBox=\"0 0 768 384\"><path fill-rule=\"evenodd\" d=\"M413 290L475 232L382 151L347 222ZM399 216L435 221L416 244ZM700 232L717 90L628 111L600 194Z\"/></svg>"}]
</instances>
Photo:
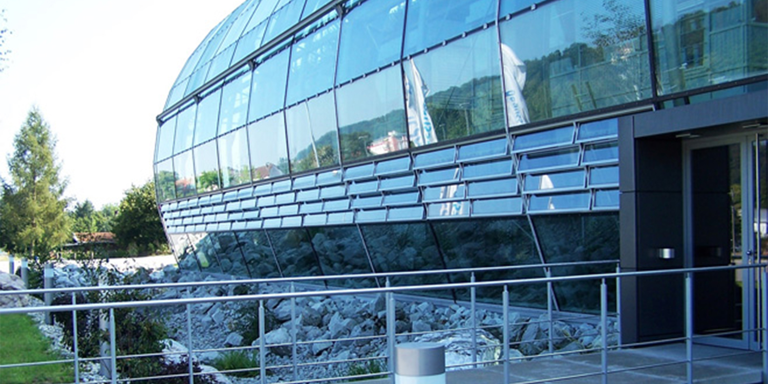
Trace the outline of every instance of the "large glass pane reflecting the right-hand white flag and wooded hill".
<instances>
[{"instance_id":1,"label":"large glass pane reflecting the right-hand white flag and wooded hill","mask_svg":"<svg viewBox=\"0 0 768 384\"><path fill-rule=\"evenodd\" d=\"M510 125L651 96L643 2L548 2L501 30L506 91L528 112Z\"/></svg>"}]
</instances>

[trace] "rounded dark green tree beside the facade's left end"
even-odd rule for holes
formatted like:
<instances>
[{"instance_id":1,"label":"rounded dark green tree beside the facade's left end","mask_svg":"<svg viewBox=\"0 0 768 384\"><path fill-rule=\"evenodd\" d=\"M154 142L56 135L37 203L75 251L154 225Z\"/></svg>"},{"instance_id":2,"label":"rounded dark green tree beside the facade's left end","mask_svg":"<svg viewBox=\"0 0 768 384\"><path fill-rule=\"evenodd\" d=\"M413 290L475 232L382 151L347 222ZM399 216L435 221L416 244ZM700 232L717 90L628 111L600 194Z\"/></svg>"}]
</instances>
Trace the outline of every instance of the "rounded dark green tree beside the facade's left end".
<instances>
[{"instance_id":1,"label":"rounded dark green tree beside the facade's left end","mask_svg":"<svg viewBox=\"0 0 768 384\"><path fill-rule=\"evenodd\" d=\"M118 245L129 253L155 253L167 250L167 240L157 212L154 182L125 191L112 227Z\"/></svg>"}]
</instances>

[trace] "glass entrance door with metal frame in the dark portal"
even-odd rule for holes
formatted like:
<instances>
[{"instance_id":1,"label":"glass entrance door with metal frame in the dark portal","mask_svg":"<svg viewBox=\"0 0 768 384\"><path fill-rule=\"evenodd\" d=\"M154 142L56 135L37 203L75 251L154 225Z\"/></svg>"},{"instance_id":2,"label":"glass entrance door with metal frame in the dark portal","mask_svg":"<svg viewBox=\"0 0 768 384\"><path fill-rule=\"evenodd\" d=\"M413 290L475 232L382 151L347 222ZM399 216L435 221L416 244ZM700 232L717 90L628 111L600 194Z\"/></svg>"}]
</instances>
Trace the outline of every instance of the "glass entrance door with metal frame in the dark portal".
<instances>
[{"instance_id":1,"label":"glass entrance door with metal frame in the dark portal","mask_svg":"<svg viewBox=\"0 0 768 384\"><path fill-rule=\"evenodd\" d=\"M766 135L685 144L687 266L766 260ZM702 343L756 349L759 273L694 274L694 332Z\"/></svg>"}]
</instances>

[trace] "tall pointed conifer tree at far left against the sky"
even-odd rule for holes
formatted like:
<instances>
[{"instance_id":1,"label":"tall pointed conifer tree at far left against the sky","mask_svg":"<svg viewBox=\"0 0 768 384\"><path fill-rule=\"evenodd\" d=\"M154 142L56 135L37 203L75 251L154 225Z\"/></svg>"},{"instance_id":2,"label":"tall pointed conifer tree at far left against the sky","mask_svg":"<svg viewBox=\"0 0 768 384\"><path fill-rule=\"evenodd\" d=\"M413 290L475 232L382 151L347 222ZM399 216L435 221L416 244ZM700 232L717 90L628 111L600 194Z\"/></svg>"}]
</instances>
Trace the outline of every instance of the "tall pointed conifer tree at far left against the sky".
<instances>
[{"instance_id":1,"label":"tall pointed conifer tree at far left against the sky","mask_svg":"<svg viewBox=\"0 0 768 384\"><path fill-rule=\"evenodd\" d=\"M63 197L67 183L59 177L55 146L48 123L32 108L14 137L13 156L8 157L11 183L2 188L0 246L40 261L48 260L71 235Z\"/></svg>"}]
</instances>

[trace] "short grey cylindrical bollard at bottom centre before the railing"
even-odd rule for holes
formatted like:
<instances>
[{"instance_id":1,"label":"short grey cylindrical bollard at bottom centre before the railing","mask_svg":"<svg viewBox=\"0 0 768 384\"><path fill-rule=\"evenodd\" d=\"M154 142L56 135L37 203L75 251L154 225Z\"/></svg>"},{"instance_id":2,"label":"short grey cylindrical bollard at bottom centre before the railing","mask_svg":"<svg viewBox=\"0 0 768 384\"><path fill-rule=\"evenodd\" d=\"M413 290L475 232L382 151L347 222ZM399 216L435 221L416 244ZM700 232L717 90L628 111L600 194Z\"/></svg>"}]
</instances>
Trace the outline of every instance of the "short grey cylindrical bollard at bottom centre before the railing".
<instances>
[{"instance_id":1,"label":"short grey cylindrical bollard at bottom centre before the railing","mask_svg":"<svg viewBox=\"0 0 768 384\"><path fill-rule=\"evenodd\" d=\"M445 346L440 343L395 346L395 384L445 384Z\"/></svg>"}]
</instances>

